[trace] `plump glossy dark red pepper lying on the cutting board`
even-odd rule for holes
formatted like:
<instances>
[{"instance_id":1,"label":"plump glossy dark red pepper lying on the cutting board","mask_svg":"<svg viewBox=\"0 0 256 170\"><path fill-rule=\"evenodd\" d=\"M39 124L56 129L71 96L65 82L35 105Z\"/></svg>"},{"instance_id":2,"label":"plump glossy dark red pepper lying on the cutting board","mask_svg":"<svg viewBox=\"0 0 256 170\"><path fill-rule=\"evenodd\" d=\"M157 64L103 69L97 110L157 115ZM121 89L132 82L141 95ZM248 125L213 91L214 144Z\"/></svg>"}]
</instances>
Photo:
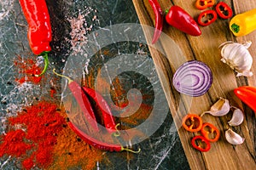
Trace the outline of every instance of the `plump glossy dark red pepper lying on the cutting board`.
<instances>
[{"instance_id":1,"label":"plump glossy dark red pepper lying on the cutting board","mask_svg":"<svg viewBox=\"0 0 256 170\"><path fill-rule=\"evenodd\" d=\"M201 30L195 20L179 6L172 6L166 14L166 22L191 36L200 36Z\"/></svg>"}]
</instances>

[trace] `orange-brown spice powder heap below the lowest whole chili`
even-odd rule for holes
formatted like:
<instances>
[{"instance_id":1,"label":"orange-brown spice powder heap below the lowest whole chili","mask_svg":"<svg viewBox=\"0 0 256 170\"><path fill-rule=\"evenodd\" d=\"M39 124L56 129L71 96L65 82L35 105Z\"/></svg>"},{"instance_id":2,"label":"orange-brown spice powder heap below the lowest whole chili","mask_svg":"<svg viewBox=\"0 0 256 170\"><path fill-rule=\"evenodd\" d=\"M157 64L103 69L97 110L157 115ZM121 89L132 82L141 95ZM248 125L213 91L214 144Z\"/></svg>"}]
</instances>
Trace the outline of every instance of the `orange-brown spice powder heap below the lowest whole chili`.
<instances>
[{"instance_id":1,"label":"orange-brown spice powder heap below the lowest whole chili","mask_svg":"<svg viewBox=\"0 0 256 170\"><path fill-rule=\"evenodd\" d=\"M84 140L73 133L69 127L64 128L57 136L57 142L54 146L55 161L48 168L55 169L94 169L96 162L102 160L103 151L97 150L86 144Z\"/></svg>"}]
</instances>

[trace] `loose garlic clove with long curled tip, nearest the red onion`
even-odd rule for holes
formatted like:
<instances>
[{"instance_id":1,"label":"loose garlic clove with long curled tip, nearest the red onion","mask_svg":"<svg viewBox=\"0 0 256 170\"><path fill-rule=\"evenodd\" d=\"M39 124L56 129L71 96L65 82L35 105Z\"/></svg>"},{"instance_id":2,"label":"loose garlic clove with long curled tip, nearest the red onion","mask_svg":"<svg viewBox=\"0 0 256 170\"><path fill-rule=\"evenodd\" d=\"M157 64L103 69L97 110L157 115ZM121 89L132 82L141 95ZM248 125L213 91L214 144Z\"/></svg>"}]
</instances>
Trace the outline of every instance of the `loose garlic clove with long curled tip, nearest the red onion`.
<instances>
[{"instance_id":1,"label":"loose garlic clove with long curled tip, nearest the red onion","mask_svg":"<svg viewBox=\"0 0 256 170\"><path fill-rule=\"evenodd\" d=\"M228 99L219 98L218 101L212 105L210 111L205 111L202 113L209 113L212 116L225 116L230 111L230 101Z\"/></svg>"}]
</instances>

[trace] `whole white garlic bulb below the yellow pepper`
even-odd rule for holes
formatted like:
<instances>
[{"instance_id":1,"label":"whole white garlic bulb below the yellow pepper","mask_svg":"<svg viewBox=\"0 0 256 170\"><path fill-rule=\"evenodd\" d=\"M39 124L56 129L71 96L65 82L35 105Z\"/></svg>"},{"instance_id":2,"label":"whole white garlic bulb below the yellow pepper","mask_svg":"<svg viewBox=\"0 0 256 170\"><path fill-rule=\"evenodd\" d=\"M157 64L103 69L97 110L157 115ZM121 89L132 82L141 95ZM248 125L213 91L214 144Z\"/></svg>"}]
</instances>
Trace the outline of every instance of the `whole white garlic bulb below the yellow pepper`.
<instances>
[{"instance_id":1,"label":"whole white garlic bulb below the yellow pepper","mask_svg":"<svg viewBox=\"0 0 256 170\"><path fill-rule=\"evenodd\" d=\"M251 77L253 72L250 71L253 65L253 58L247 48L251 46L252 42L245 44L236 42L224 42L219 47L221 49L221 61L237 72L236 77Z\"/></svg>"}]
</instances>

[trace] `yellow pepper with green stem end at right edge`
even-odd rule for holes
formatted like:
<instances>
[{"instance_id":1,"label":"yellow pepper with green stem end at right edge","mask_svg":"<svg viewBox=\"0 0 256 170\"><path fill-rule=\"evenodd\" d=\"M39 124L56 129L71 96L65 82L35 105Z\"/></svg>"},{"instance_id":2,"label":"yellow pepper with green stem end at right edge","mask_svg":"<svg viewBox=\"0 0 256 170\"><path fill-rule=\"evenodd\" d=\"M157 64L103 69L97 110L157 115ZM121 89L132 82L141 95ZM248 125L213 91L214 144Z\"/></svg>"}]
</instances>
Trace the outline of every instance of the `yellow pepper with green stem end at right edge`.
<instances>
[{"instance_id":1,"label":"yellow pepper with green stem end at right edge","mask_svg":"<svg viewBox=\"0 0 256 170\"><path fill-rule=\"evenodd\" d=\"M230 20L230 31L235 36L245 36L256 30L256 8L242 14L236 14Z\"/></svg>"}]
</instances>

